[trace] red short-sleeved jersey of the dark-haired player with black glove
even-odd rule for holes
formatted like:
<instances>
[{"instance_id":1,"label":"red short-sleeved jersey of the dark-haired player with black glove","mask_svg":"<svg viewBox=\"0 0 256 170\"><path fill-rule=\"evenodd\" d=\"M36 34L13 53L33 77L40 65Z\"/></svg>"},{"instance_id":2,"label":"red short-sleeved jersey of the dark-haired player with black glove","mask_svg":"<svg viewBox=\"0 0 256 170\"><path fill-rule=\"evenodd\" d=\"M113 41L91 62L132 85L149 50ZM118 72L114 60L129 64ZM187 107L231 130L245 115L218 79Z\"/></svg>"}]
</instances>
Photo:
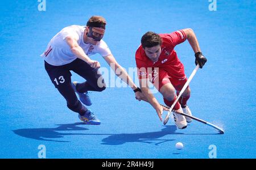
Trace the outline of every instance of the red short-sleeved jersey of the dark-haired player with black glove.
<instances>
[{"instance_id":1,"label":"red short-sleeved jersey of the dark-haired player with black glove","mask_svg":"<svg viewBox=\"0 0 256 170\"><path fill-rule=\"evenodd\" d=\"M184 42L187 39L187 36L182 30L159 35L162 38L162 46L161 54L157 62L152 62L151 59L146 56L142 45L140 45L136 51L135 59L138 67L138 78L148 78L148 75L151 74L148 73L148 68L154 69L155 67L158 67L159 70L165 70L168 72L168 74L170 74L170 76L183 78L185 75L184 66L180 62L179 58L177 58L174 48L177 44ZM145 70L142 68L146 68L146 71L141 71Z\"/></svg>"}]
</instances>

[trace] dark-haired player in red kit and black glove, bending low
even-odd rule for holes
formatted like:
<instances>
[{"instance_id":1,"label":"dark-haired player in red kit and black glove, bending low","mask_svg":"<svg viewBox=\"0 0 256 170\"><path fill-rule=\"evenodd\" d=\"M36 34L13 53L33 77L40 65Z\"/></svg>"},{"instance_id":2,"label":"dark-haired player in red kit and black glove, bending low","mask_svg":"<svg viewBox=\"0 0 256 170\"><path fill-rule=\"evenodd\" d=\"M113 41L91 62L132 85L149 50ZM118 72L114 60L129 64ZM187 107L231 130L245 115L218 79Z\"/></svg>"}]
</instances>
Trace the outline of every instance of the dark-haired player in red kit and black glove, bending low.
<instances>
[{"instance_id":1,"label":"dark-haired player in red kit and black glove, bending low","mask_svg":"<svg viewBox=\"0 0 256 170\"><path fill-rule=\"evenodd\" d=\"M187 82L184 66L179 58L177 58L174 50L177 44L185 40L188 40L195 52L196 65L198 63L202 69L205 62L207 62L207 58L201 53L196 35L190 28L164 34L147 32L142 36L141 45L135 55L139 84L144 95L143 100L148 101L154 107L160 121L162 121L164 108L158 103L154 95L151 94L148 88L148 80L163 95L164 103L171 107L185 82ZM175 104L174 109L192 115L187 105L190 94L191 90L188 86L181 95L179 103ZM179 129L186 128L187 122L192 121L189 117L184 117L174 112L172 114L174 114L175 124Z\"/></svg>"}]
</instances>

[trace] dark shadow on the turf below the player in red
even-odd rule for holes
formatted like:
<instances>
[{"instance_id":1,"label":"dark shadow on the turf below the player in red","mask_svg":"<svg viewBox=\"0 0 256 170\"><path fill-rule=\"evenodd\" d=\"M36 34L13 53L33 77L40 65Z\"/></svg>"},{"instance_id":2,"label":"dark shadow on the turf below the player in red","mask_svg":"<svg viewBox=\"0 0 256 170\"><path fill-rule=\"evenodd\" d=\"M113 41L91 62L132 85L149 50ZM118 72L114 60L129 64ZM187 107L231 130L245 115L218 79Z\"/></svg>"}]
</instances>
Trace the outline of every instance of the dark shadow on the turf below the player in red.
<instances>
[{"instance_id":1,"label":"dark shadow on the turf below the player in red","mask_svg":"<svg viewBox=\"0 0 256 170\"><path fill-rule=\"evenodd\" d=\"M175 141L175 139L159 139L165 135L170 134L183 134L175 133L175 125L164 126L161 131L153 131L148 133L134 133L134 134L113 134L107 138L102 139L102 145L122 145L127 142L142 142L142 143L154 143L159 145L160 143Z\"/></svg>"}]
</instances>

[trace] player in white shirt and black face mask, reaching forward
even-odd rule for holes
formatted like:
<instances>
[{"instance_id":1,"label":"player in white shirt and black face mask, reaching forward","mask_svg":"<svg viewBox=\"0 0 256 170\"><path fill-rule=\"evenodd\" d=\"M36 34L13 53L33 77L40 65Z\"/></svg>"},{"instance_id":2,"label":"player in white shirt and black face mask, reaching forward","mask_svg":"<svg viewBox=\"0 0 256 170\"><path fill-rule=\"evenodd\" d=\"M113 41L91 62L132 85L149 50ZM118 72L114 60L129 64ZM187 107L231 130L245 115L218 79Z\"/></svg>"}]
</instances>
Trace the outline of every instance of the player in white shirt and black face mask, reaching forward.
<instances>
[{"instance_id":1,"label":"player in white shirt and black face mask, reaching forward","mask_svg":"<svg viewBox=\"0 0 256 170\"><path fill-rule=\"evenodd\" d=\"M46 51L41 55L49 78L67 100L67 107L79 113L80 120L85 124L100 124L94 113L83 105L92 105L88 91L103 91L106 88L104 79L98 71L100 63L89 58L93 54L99 53L104 57L105 61L111 64L115 74L133 89L135 98L142 98L141 90L117 63L108 45L102 40L105 25L106 20L102 16L92 16L86 27L65 27L51 39ZM86 79L86 82L72 83L71 70ZM77 99L75 92L80 100Z\"/></svg>"}]
</instances>

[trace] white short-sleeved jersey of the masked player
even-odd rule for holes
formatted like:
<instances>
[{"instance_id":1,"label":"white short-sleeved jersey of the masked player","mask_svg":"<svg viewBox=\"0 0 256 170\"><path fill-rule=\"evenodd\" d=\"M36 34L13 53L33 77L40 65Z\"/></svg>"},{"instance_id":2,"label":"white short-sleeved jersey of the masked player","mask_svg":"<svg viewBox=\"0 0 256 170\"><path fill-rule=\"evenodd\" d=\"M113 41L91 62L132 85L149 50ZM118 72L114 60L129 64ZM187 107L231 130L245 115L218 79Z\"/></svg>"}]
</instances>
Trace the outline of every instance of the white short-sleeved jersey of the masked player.
<instances>
[{"instance_id":1,"label":"white short-sleeved jersey of the masked player","mask_svg":"<svg viewBox=\"0 0 256 170\"><path fill-rule=\"evenodd\" d=\"M63 28L49 42L46 51L41 54L41 57L53 66L62 66L74 61L77 57L72 53L71 48L65 40L66 37L72 36L77 39L78 44L84 50L87 56L99 53L102 57L111 54L110 49L105 41L101 40L96 45L85 44L84 42L85 26L71 25Z\"/></svg>"}]
</instances>

